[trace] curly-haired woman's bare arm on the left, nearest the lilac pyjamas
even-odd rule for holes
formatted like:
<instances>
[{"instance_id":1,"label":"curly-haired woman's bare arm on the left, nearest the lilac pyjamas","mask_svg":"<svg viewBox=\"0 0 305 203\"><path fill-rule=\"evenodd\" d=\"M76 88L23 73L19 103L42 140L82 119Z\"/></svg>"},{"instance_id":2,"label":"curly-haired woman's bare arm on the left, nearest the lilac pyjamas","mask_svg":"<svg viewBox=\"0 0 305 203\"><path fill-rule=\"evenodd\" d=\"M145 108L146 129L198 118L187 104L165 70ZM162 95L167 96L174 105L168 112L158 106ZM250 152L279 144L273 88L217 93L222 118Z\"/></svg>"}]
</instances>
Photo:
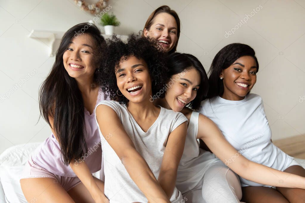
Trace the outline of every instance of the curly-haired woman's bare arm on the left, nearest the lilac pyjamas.
<instances>
[{"instance_id":1,"label":"curly-haired woman's bare arm on the left, nearest the lilac pyjamas","mask_svg":"<svg viewBox=\"0 0 305 203\"><path fill-rule=\"evenodd\" d=\"M117 113L107 105L99 105L96 108L96 117L103 136L106 138L106 135L112 135L107 137L107 142L148 201L169 203L169 199L145 159L137 152L124 130Z\"/></svg>"}]
</instances>

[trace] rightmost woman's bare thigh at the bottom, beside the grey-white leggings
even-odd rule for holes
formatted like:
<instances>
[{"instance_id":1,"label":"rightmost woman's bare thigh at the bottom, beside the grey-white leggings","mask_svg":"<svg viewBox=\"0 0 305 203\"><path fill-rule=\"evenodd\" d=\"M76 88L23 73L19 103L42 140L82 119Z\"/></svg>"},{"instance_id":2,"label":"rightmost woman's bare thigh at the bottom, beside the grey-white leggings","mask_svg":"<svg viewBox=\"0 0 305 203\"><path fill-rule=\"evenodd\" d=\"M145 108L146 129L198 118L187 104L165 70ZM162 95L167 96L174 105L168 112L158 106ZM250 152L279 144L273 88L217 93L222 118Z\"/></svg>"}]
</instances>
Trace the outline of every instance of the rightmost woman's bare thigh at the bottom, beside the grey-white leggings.
<instances>
[{"instance_id":1,"label":"rightmost woman's bare thigh at the bottom, beside the grey-white leggings","mask_svg":"<svg viewBox=\"0 0 305 203\"><path fill-rule=\"evenodd\" d=\"M242 187L242 201L247 203L289 203L280 192L264 186Z\"/></svg>"}]
</instances>

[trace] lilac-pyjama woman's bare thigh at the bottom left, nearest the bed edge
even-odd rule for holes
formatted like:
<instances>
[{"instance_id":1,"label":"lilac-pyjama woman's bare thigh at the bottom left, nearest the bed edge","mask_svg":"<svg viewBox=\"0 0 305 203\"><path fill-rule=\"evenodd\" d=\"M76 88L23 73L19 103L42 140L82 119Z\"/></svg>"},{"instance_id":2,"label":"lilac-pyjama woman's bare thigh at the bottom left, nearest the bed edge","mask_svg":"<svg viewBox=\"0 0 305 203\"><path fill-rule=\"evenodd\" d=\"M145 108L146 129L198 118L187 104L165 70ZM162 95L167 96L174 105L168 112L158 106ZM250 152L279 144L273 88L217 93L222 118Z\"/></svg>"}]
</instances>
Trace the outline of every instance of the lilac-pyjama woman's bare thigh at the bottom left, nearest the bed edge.
<instances>
[{"instance_id":1,"label":"lilac-pyjama woman's bare thigh at the bottom left, nearest the bed edge","mask_svg":"<svg viewBox=\"0 0 305 203\"><path fill-rule=\"evenodd\" d=\"M54 178L24 178L20 180L20 184L28 202L74 202Z\"/></svg>"}]
</instances>

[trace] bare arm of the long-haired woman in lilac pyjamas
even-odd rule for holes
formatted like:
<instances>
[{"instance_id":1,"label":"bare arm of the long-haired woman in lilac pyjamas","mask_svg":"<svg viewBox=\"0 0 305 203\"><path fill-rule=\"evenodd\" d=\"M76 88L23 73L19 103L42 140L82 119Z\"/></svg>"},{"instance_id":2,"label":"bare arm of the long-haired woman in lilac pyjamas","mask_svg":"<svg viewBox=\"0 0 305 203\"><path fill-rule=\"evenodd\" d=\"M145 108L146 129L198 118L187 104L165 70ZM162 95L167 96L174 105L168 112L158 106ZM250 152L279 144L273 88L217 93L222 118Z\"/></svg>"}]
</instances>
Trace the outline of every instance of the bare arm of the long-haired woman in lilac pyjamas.
<instances>
[{"instance_id":1,"label":"bare arm of the long-haired woman in lilac pyjamas","mask_svg":"<svg viewBox=\"0 0 305 203\"><path fill-rule=\"evenodd\" d=\"M53 135L57 139L57 136L55 135L53 128L54 126L53 117L49 116L49 121L51 124L51 130L53 132ZM89 191L95 202L101 202L107 200L106 196L104 195L104 191L101 191L98 185L95 183L95 180L86 162L82 162L82 161L75 162L75 160L71 160L70 167L77 175L77 177L81 180L81 182L84 184L84 186L87 188L87 190Z\"/></svg>"}]
</instances>

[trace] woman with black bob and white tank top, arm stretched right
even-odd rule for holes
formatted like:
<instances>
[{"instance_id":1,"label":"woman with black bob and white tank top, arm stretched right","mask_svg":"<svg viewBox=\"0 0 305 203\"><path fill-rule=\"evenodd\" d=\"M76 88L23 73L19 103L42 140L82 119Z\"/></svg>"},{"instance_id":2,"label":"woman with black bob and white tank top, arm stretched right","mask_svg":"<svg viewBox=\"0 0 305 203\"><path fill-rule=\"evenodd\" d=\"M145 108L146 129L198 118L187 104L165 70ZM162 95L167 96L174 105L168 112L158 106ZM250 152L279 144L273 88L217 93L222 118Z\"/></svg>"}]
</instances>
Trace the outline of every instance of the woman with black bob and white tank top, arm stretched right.
<instances>
[{"instance_id":1,"label":"woman with black bob and white tank top, arm stretched right","mask_svg":"<svg viewBox=\"0 0 305 203\"><path fill-rule=\"evenodd\" d=\"M156 104L175 112L180 111L189 120L185 149L179 163L176 182L177 188L188 201L239 202L239 181L236 176L234 180L232 171L219 159L223 162L234 159L228 166L244 178L262 184L305 188L305 178L289 176L289 173L267 168L239 155L213 121L192 110L199 108L202 98L208 91L206 72L196 57L191 54L170 54L167 66L170 71L166 92L164 98L156 100ZM197 139L203 140L219 159L214 154L199 149ZM236 155L238 156L235 157ZM285 182L279 183L281 179L285 179Z\"/></svg>"}]
</instances>

